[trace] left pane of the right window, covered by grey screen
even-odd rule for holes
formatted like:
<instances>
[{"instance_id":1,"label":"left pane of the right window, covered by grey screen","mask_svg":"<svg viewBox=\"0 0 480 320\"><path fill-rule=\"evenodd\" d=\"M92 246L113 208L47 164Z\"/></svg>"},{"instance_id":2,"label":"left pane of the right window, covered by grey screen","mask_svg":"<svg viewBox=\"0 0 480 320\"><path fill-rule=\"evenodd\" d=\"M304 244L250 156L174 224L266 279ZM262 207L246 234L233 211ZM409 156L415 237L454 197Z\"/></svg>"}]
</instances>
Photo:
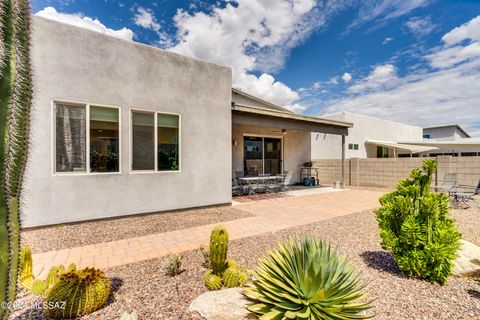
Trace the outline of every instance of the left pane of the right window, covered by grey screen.
<instances>
[{"instance_id":1,"label":"left pane of the right window, covered by grey screen","mask_svg":"<svg viewBox=\"0 0 480 320\"><path fill-rule=\"evenodd\" d=\"M132 169L155 169L155 118L153 113L132 112Z\"/></svg>"}]
</instances>

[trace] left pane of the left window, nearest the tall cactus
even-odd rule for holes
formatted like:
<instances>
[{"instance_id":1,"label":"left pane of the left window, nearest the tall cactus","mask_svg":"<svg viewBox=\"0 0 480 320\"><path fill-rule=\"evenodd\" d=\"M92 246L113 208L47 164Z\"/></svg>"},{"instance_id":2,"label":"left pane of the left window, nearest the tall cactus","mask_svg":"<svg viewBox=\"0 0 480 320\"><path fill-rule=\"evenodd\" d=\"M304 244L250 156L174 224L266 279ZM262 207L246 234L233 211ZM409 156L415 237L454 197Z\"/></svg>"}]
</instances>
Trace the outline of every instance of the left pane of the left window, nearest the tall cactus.
<instances>
[{"instance_id":1,"label":"left pane of the left window, nearest the tall cactus","mask_svg":"<svg viewBox=\"0 0 480 320\"><path fill-rule=\"evenodd\" d=\"M56 172L85 172L86 107L56 104Z\"/></svg>"}]
</instances>

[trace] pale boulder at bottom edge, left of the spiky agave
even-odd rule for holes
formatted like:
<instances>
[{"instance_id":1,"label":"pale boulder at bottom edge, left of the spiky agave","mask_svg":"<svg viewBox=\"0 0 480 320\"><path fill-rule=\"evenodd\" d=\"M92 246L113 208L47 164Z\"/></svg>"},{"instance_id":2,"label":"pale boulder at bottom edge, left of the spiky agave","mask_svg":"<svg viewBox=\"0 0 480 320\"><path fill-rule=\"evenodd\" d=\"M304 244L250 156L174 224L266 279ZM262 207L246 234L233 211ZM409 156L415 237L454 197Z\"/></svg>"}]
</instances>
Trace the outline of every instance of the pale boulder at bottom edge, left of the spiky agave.
<instances>
[{"instance_id":1,"label":"pale boulder at bottom edge, left of the spiky agave","mask_svg":"<svg viewBox=\"0 0 480 320\"><path fill-rule=\"evenodd\" d=\"M205 320L241 320L249 316L241 288L208 291L192 301L189 311Z\"/></svg>"}]
</instances>

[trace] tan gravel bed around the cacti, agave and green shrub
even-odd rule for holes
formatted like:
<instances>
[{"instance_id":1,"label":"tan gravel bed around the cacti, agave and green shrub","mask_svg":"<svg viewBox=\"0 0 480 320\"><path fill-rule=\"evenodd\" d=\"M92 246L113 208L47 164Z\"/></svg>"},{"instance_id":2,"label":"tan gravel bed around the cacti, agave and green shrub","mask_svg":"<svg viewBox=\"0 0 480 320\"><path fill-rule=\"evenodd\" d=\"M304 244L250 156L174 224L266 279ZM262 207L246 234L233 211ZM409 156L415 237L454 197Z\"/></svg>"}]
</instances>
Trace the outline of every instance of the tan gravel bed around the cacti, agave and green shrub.
<instances>
[{"instance_id":1,"label":"tan gravel bed around the cacti, agave and green shrub","mask_svg":"<svg viewBox=\"0 0 480 320\"><path fill-rule=\"evenodd\" d=\"M465 238L478 239L479 212L455 211ZM470 225L476 224L475 227ZM368 282L374 300L375 319L480 319L480 282L451 277L440 286L405 277L392 256L379 245L378 228L371 211L334 218L316 224L232 241L229 257L255 267L257 258L290 235L314 234L329 241L347 256ZM195 319L188 313L190 302L204 292L198 250L184 255L184 272L172 278L164 273L166 259L155 259L107 270L113 277L115 293L110 303L85 319L118 319L125 310L137 310L139 319ZM25 293L19 301L29 301ZM19 310L15 319L43 319L35 310Z\"/></svg>"}]
</instances>

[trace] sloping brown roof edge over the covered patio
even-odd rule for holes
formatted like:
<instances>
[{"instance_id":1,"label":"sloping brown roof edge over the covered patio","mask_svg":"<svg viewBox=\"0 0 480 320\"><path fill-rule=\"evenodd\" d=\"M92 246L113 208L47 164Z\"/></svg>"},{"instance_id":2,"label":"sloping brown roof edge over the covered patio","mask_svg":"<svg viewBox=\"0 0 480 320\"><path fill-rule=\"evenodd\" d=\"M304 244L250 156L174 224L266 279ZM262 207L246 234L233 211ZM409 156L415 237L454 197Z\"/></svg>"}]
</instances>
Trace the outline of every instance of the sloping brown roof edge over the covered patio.
<instances>
[{"instance_id":1,"label":"sloping brown roof edge over the covered patio","mask_svg":"<svg viewBox=\"0 0 480 320\"><path fill-rule=\"evenodd\" d=\"M348 135L350 122L232 103L232 124Z\"/></svg>"}]
</instances>

